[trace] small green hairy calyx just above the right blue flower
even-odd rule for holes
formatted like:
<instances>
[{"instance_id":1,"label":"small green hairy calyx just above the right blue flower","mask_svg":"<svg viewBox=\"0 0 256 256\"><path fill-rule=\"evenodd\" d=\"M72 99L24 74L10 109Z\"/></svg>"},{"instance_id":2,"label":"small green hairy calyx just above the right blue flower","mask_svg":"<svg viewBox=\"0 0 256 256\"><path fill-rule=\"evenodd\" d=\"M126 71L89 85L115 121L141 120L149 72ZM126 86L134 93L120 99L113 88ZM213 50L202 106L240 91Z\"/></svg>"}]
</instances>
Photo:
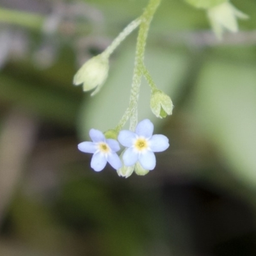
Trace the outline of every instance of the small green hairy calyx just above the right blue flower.
<instances>
[{"instance_id":1,"label":"small green hairy calyx just above the right blue flower","mask_svg":"<svg viewBox=\"0 0 256 256\"><path fill-rule=\"evenodd\" d=\"M154 90L150 98L150 108L159 118L172 115L173 104L171 98L161 90Z\"/></svg>"}]
</instances>

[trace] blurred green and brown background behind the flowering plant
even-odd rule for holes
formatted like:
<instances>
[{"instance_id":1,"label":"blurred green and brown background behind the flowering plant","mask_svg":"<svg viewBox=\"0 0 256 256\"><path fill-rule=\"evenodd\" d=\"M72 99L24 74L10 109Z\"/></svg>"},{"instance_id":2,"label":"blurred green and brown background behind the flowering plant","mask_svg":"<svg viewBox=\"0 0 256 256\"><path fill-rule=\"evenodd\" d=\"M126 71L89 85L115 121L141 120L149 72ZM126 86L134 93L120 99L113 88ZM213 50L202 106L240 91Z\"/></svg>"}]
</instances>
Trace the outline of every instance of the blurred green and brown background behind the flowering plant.
<instances>
[{"instance_id":1,"label":"blurred green and brown background behind the flowering plant","mask_svg":"<svg viewBox=\"0 0 256 256\"><path fill-rule=\"evenodd\" d=\"M0 255L256 255L256 2L216 39L202 10L163 0L145 63L172 97L140 120L170 138L144 177L90 169L77 150L115 127L129 101L134 31L91 98L77 69L138 17L147 0L0 0Z\"/></svg>"}]
</instances>

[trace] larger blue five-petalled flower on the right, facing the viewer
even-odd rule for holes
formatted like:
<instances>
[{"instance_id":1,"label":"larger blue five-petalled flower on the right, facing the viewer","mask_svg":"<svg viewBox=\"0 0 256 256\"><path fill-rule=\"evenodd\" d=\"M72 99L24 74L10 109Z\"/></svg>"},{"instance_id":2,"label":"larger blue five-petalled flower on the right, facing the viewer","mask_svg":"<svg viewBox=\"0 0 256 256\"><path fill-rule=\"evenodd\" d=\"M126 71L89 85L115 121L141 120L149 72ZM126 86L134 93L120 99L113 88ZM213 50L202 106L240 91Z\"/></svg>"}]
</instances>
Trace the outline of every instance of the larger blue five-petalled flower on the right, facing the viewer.
<instances>
[{"instance_id":1,"label":"larger blue five-petalled flower on the right, facing the viewer","mask_svg":"<svg viewBox=\"0 0 256 256\"><path fill-rule=\"evenodd\" d=\"M125 166L132 166L137 161L145 170L153 170L156 167L154 152L162 152L169 147L169 140L162 134L152 135L154 125L150 120L142 120L135 132L120 131L118 141L127 147L123 161Z\"/></svg>"}]
</instances>

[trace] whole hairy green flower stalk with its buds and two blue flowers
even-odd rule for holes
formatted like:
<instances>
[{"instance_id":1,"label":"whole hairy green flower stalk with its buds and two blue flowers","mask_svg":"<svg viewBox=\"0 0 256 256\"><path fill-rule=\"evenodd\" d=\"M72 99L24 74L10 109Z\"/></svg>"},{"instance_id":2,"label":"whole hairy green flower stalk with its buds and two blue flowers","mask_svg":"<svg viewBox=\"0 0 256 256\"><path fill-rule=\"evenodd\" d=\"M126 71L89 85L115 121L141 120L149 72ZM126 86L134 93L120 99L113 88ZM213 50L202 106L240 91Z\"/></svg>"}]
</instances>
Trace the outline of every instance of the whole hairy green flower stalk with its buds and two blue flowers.
<instances>
[{"instance_id":1,"label":"whole hairy green flower stalk with its buds and two blue flowers","mask_svg":"<svg viewBox=\"0 0 256 256\"><path fill-rule=\"evenodd\" d=\"M136 42L131 95L124 116L115 129L110 129L104 133L91 129L89 134L92 141L84 141L78 145L82 152L93 154L91 167L95 172L100 172L109 163L120 177L127 178L133 172L136 172L137 175L146 175L156 167L154 153L163 152L169 147L169 140L166 136L153 135L154 125L150 120L145 119L138 123L138 99L142 76L145 76L151 88L150 108L153 113L159 118L172 114L172 100L157 88L144 64L150 22L160 3L161 0L150 0L141 17L132 21L104 52L87 61L74 77L74 84L83 83L84 91L95 88L92 94L99 92L108 76L109 56L127 35L140 26ZM129 130L122 130L129 119ZM125 147L120 157L116 154L120 150L118 142Z\"/></svg>"}]
</instances>

